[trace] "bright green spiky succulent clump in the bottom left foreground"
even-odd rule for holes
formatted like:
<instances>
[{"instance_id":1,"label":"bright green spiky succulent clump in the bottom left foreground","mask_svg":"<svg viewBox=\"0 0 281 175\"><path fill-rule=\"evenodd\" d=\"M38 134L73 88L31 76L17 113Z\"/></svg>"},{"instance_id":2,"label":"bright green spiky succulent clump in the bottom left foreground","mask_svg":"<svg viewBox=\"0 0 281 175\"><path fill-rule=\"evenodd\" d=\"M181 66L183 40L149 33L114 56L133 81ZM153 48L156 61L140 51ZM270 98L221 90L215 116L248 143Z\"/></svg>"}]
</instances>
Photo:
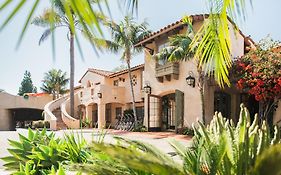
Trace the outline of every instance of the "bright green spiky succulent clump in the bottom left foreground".
<instances>
[{"instance_id":1,"label":"bright green spiky succulent clump in the bottom left foreground","mask_svg":"<svg viewBox=\"0 0 281 175\"><path fill-rule=\"evenodd\" d=\"M28 136L19 134L19 141L9 140L12 148L10 156L2 158L4 167L18 173L28 169L35 174L48 174L52 168L57 170L62 162L83 163L89 154L86 141L74 134L65 135L63 139L55 138L55 134L28 130Z\"/></svg>"}]
</instances>

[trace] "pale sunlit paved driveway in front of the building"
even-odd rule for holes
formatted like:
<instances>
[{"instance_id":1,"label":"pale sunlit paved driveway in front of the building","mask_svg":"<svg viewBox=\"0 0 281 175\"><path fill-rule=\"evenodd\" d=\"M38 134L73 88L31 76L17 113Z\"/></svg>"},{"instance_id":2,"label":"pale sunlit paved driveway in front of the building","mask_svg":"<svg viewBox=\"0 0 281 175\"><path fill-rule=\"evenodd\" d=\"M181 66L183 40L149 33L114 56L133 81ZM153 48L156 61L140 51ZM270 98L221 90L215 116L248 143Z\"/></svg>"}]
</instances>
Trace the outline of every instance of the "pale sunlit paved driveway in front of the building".
<instances>
[{"instance_id":1,"label":"pale sunlit paved driveway in front of the building","mask_svg":"<svg viewBox=\"0 0 281 175\"><path fill-rule=\"evenodd\" d=\"M66 131L56 131L56 136L62 137L64 133L67 132L78 132L80 133L81 130L66 130ZM4 157L9 155L7 148L9 148L8 139L11 140L18 140L18 133L27 135L26 129L18 129L17 131L1 131L0 132L0 157ZM87 141L92 141L93 139L97 139L97 137L100 135L100 131L98 130L82 130L83 137ZM116 131L116 130L107 130L105 136L105 142L108 143L114 143L114 136L132 139L132 140L138 140L142 141L148 144L151 144L157 148L159 148L161 151L165 153L173 153L173 148L169 145L169 140L175 139L182 144L189 146L191 141L189 137L183 136L183 135L176 135L171 132L146 132L146 133L132 133L132 132L125 132L125 131ZM178 157L173 157L175 160L179 161ZM9 174L7 172L3 171L3 164L4 162L0 160L0 174L5 175Z\"/></svg>"}]
</instances>

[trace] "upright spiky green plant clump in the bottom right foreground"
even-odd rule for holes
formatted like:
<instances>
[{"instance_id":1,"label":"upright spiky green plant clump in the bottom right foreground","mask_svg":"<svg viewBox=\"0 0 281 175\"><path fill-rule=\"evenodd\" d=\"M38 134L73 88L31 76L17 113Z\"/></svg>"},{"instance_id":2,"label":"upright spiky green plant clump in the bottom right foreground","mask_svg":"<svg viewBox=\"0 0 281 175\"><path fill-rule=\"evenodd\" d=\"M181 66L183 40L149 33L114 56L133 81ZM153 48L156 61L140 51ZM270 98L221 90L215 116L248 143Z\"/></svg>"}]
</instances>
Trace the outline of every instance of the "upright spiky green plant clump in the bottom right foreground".
<instances>
[{"instance_id":1,"label":"upright spiky green plant clump in the bottom right foreground","mask_svg":"<svg viewBox=\"0 0 281 175\"><path fill-rule=\"evenodd\" d=\"M279 129L275 127L271 137L269 127L265 122L260 126L257 116L251 124L243 105L237 125L216 113L209 126L199 122L194 130L191 148L172 142L187 174L248 174L261 153L280 143Z\"/></svg>"}]
</instances>

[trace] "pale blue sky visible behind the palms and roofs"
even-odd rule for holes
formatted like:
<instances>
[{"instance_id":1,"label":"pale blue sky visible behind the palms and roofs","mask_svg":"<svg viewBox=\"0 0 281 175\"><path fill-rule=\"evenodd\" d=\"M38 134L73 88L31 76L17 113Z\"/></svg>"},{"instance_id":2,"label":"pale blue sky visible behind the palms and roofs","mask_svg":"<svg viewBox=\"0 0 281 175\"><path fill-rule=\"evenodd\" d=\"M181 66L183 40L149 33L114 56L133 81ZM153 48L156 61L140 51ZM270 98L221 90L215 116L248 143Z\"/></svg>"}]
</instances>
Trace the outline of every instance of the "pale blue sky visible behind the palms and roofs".
<instances>
[{"instance_id":1,"label":"pale blue sky visible behind the palms and roofs","mask_svg":"<svg viewBox=\"0 0 281 175\"><path fill-rule=\"evenodd\" d=\"M3 0L0 1L2 2ZM109 0L109 3L113 19L121 20L124 13L118 8L116 0ZM150 29L157 30L179 20L184 15L205 13L205 5L206 0L140 0L137 20L141 22L146 19ZM48 1L42 0L36 14L40 14L40 11L48 6ZM26 5L24 10L0 32L0 89L12 94L18 92L25 70L31 72L32 80L38 89L44 72L51 68L69 72L69 44L64 29L56 32L55 60L52 58L51 40L38 45L44 29L37 26L29 26L20 48L15 49L29 8L30 6ZM281 40L280 8L280 0L253 0L253 9L248 6L247 19L239 26L245 35L251 35L255 41L268 34L275 40ZM0 13L0 24L9 13L9 10ZM76 50L76 85L89 67L112 70L121 65L120 55L101 53L97 56L86 40L81 39L81 44L85 60L81 59ZM132 62L133 65L141 63L143 63L142 54L136 56Z\"/></svg>"}]
</instances>

